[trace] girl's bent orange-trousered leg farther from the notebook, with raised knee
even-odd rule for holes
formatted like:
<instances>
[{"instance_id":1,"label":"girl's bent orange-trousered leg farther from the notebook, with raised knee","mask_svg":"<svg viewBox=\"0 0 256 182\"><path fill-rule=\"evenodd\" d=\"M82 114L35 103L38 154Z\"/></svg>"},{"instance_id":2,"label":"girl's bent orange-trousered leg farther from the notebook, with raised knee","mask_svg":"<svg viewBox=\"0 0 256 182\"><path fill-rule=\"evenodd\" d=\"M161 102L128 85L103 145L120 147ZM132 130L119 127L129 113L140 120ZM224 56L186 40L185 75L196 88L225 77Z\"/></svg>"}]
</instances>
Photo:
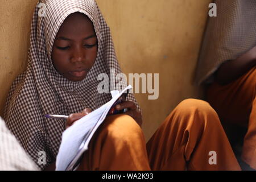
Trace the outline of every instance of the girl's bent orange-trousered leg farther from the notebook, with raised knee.
<instances>
[{"instance_id":1,"label":"girl's bent orange-trousered leg farther from the notebook, with raised knee","mask_svg":"<svg viewBox=\"0 0 256 182\"><path fill-rule=\"evenodd\" d=\"M241 169L217 113L200 100L181 102L148 141L147 151L153 170Z\"/></svg>"}]
</instances>

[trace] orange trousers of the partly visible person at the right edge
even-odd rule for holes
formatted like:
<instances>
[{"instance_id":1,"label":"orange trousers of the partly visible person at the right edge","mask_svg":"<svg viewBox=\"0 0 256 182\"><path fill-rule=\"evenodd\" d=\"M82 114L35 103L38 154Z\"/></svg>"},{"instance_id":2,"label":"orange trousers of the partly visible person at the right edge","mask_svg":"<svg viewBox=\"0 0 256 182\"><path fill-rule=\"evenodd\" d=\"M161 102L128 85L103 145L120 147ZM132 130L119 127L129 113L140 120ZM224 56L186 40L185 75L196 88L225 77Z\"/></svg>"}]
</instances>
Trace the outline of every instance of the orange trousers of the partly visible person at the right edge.
<instances>
[{"instance_id":1,"label":"orange trousers of the partly visible person at the right edge","mask_svg":"<svg viewBox=\"0 0 256 182\"><path fill-rule=\"evenodd\" d=\"M228 85L214 82L207 90L207 101L228 127L245 127L242 160L256 169L256 67ZM232 130L226 127L226 131ZM235 131L234 135L237 135Z\"/></svg>"}]
</instances>

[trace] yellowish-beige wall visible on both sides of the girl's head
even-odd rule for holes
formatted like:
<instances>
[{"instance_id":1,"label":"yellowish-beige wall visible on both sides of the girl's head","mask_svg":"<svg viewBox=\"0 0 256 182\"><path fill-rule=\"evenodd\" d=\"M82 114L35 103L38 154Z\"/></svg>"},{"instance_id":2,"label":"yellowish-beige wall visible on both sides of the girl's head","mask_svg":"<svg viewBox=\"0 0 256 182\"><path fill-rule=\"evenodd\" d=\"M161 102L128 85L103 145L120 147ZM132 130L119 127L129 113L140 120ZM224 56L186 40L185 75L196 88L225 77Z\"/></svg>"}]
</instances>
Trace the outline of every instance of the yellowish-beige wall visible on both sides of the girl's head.
<instances>
[{"instance_id":1,"label":"yellowish-beige wall visible on both sides of the girl's head","mask_svg":"<svg viewBox=\"0 0 256 182\"><path fill-rule=\"evenodd\" d=\"M159 98L136 94L148 139L185 98L200 98L193 72L211 0L97 0L119 63L127 73L159 73ZM11 82L26 68L36 0L0 0L0 110Z\"/></svg>"}]
</instances>

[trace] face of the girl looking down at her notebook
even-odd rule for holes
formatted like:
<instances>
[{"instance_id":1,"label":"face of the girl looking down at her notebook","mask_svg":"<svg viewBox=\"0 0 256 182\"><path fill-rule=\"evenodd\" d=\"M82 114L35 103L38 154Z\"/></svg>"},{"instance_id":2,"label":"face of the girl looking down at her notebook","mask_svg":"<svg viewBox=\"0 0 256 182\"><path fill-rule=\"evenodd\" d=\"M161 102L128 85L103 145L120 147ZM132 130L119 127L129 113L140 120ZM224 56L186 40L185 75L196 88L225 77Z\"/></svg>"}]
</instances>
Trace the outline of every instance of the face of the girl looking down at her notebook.
<instances>
[{"instance_id":1,"label":"face of the girl looking down at her notebook","mask_svg":"<svg viewBox=\"0 0 256 182\"><path fill-rule=\"evenodd\" d=\"M97 37L93 23L82 13L64 20L52 48L52 63L70 81L83 80L97 57Z\"/></svg>"}]
</instances>

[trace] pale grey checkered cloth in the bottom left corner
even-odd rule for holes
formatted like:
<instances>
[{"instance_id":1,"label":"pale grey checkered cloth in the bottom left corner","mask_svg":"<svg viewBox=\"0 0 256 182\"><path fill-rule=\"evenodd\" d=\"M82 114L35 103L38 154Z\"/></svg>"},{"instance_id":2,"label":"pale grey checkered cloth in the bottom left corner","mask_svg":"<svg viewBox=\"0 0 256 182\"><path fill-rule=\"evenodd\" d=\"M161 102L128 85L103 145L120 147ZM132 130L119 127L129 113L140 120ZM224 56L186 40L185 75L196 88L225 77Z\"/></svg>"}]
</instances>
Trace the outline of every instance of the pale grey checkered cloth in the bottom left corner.
<instances>
[{"instance_id":1,"label":"pale grey checkered cloth in the bottom left corner","mask_svg":"<svg viewBox=\"0 0 256 182\"><path fill-rule=\"evenodd\" d=\"M0 171L38 170L0 118Z\"/></svg>"}]
</instances>

